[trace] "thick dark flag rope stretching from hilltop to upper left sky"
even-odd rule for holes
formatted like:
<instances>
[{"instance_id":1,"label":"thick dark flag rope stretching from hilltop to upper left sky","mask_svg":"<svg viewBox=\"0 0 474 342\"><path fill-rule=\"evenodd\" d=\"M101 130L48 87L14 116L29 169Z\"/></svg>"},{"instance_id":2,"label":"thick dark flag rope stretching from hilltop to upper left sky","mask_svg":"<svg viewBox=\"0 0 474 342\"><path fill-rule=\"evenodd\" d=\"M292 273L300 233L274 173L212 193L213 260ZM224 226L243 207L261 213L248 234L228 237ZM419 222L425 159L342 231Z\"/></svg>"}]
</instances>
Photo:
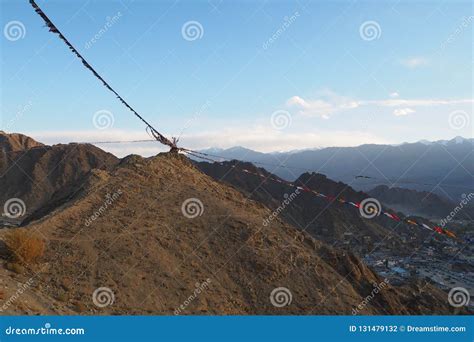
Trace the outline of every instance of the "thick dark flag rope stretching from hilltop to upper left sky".
<instances>
[{"instance_id":1,"label":"thick dark flag rope stretching from hilltop to upper left sky","mask_svg":"<svg viewBox=\"0 0 474 342\"><path fill-rule=\"evenodd\" d=\"M97 71L94 70L94 68L85 60L84 57L82 57L82 55L79 53L79 51L76 50L76 48L74 48L74 46L72 46L72 44L67 40L67 38L59 31L59 29L53 24L53 22L48 18L48 16L41 10L41 8L36 4L36 2L34 0L30 0L30 4L31 6L33 6L34 10L36 11L36 13L38 13L38 15L43 18L44 22L46 23L46 26L49 28L49 32L53 32L53 33L56 33L59 38L64 42L66 43L66 45L69 47L69 50L71 50L82 62L82 64L87 68L89 69L95 77L97 77L102 83L103 85L109 89L112 93L115 94L115 96L120 100L120 102L122 102L133 114L135 114L136 117L138 117L141 121L143 121L147 128L150 129L153 137L158 140L159 142L161 142L162 144L164 145L168 145L169 147L171 147L172 149L176 149L176 145L170 141L168 138L166 138L164 135L162 135L160 132L158 132L150 123L148 123L140 114L137 113L137 111L135 109L133 109L128 103L127 101L125 101L120 95L119 93L117 93L108 83L107 81L105 81L98 73Z\"/></svg>"}]
</instances>

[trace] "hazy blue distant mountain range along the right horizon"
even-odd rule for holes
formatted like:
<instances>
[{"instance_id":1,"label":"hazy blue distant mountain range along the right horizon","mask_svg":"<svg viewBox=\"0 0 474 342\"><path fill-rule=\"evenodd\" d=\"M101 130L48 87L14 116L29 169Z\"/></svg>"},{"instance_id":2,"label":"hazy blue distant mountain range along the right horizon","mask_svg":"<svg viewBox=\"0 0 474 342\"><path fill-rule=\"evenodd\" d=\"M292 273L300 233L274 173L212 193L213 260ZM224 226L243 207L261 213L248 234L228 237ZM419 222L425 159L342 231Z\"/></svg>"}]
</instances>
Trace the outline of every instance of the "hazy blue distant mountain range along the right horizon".
<instances>
[{"instance_id":1,"label":"hazy blue distant mountain range along the right horizon","mask_svg":"<svg viewBox=\"0 0 474 342\"><path fill-rule=\"evenodd\" d=\"M202 152L252 162L287 180L314 171L357 190L385 184L434 192L457 202L462 194L474 192L473 147L474 139L456 137L397 146L368 144L275 153L232 147Z\"/></svg>"}]
</instances>

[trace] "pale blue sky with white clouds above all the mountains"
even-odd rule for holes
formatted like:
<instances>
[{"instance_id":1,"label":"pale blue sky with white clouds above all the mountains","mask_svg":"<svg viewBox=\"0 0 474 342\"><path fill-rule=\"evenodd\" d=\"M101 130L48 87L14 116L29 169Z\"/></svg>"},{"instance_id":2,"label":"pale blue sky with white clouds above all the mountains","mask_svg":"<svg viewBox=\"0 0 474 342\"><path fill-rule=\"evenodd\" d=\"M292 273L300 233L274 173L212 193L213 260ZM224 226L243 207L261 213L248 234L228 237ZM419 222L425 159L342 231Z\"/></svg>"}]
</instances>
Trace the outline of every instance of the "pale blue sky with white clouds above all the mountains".
<instances>
[{"instance_id":1,"label":"pale blue sky with white clouds above all the mountains","mask_svg":"<svg viewBox=\"0 0 474 342\"><path fill-rule=\"evenodd\" d=\"M147 138L28 1L0 2L1 129L49 143ZM37 2L138 112L187 147L473 135L470 1ZM101 126L102 114L113 124Z\"/></svg>"}]
</instances>

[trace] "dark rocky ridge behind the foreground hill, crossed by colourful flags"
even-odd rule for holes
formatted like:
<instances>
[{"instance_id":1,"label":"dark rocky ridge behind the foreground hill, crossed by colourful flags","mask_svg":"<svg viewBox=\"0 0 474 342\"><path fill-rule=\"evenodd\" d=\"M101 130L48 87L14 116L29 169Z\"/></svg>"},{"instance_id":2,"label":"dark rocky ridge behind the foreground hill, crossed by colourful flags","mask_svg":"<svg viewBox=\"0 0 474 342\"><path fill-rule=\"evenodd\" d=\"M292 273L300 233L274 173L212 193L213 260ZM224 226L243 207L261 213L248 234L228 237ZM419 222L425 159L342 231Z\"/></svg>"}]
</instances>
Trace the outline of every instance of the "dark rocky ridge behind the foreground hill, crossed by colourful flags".
<instances>
[{"instance_id":1,"label":"dark rocky ridge behind the foreground hill, crossed by colourful flags","mask_svg":"<svg viewBox=\"0 0 474 342\"><path fill-rule=\"evenodd\" d=\"M294 192L294 188L274 181L262 181L262 178L242 172L242 169L258 172L265 177L278 178L250 163L236 161L222 163L197 163L204 173L216 180L231 184L245 192L250 198L263 203L273 210L282 206L285 196ZM369 195L355 191L347 184L335 182L317 173L304 173L295 181L296 184L316 189L331 196L338 196L354 202L361 202ZM403 247L398 238L405 228L397 227L396 234L390 228L393 223L384 217L372 220L363 219L357 209L329 203L312 194L301 193L281 211L281 218L287 223L307 231L316 239L331 245L345 247L359 255L371 252L373 242L384 241L394 249Z\"/></svg>"}]
</instances>

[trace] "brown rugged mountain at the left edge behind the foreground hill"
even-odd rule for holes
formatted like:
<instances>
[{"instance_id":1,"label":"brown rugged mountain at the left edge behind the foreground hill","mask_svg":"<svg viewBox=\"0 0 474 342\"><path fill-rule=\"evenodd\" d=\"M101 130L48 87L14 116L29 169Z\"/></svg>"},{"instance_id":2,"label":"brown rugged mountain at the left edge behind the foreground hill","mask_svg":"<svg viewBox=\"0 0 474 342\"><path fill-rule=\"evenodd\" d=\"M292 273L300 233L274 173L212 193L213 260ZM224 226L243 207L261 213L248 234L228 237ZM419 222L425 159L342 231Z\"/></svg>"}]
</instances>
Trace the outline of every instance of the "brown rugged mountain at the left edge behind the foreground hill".
<instances>
[{"instance_id":1,"label":"brown rugged mountain at the left edge behind the foreground hill","mask_svg":"<svg viewBox=\"0 0 474 342\"><path fill-rule=\"evenodd\" d=\"M118 163L116 157L93 145L46 146L18 134L2 137L0 147L12 150L0 153L0 204L3 208L9 199L18 198L26 207L18 218L3 216L10 223L41 217L67 201L90 170L110 169Z\"/></svg>"}]
</instances>

